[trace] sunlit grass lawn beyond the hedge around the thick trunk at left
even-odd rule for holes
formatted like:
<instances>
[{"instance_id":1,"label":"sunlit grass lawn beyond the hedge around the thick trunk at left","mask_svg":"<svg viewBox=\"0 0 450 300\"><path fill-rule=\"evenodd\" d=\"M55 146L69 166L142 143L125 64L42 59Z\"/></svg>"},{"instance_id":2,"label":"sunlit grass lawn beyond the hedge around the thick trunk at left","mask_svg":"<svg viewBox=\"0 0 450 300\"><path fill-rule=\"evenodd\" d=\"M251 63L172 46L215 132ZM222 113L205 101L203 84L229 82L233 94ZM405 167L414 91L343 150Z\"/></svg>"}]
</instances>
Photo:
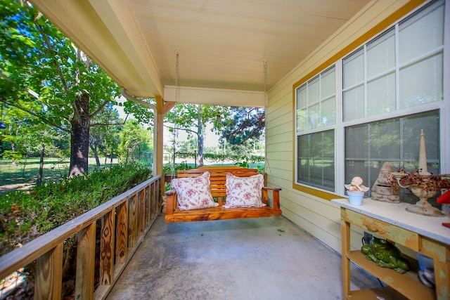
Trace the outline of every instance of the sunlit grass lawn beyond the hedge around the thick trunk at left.
<instances>
[{"instance_id":1,"label":"sunlit grass lawn beyond the hedge around the thick trunk at left","mask_svg":"<svg viewBox=\"0 0 450 300\"><path fill-rule=\"evenodd\" d=\"M42 183L60 181L69 174L70 159L59 159L56 157L44 158L44 172ZM101 158L103 166L105 158ZM108 159L108 166L110 165ZM113 164L117 164L117 159L113 159ZM89 158L89 169L96 167L94 158ZM11 159L0 159L0 194L8 193L12 190L28 190L36 184L39 174L39 157L23 159L21 162L13 164Z\"/></svg>"}]
</instances>

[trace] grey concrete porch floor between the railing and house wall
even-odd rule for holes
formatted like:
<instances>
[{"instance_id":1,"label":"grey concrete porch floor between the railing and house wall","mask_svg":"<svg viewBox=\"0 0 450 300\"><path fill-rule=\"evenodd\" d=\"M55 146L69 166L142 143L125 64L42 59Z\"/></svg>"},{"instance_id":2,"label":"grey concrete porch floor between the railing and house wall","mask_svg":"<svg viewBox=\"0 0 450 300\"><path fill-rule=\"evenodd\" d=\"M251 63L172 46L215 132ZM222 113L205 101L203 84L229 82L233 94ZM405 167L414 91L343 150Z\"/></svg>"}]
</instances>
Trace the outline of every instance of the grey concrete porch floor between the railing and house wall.
<instances>
[{"instance_id":1,"label":"grey concrete porch floor between the railing and house wall","mask_svg":"<svg viewBox=\"0 0 450 300\"><path fill-rule=\"evenodd\" d=\"M150 228L107 299L342 299L341 256L283 216ZM352 266L352 289L380 287Z\"/></svg>"}]
</instances>

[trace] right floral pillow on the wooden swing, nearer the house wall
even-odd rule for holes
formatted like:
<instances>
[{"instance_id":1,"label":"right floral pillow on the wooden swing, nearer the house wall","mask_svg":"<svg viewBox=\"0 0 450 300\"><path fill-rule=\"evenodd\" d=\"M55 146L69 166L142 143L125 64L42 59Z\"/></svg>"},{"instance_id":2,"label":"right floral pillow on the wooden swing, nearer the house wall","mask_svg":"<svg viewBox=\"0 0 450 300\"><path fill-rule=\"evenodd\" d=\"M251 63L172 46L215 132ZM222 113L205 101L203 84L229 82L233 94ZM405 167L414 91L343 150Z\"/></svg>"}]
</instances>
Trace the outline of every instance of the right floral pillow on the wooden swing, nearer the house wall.
<instances>
[{"instance_id":1,"label":"right floral pillow on the wooden swing, nearer the house wall","mask_svg":"<svg viewBox=\"0 0 450 300\"><path fill-rule=\"evenodd\" d=\"M238 177L226 174L226 202L224 207L264 207L262 187L264 176L257 174L250 177Z\"/></svg>"}]
</instances>

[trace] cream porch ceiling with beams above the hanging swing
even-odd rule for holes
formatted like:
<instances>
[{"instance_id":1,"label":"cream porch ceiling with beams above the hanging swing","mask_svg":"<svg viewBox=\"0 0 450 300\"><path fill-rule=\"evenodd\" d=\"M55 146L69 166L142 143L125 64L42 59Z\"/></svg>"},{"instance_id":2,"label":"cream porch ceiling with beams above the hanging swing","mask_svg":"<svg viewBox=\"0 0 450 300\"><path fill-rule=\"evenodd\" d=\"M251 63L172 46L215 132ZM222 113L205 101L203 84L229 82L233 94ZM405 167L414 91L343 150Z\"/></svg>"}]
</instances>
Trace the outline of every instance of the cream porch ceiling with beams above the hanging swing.
<instances>
[{"instance_id":1,"label":"cream porch ceiling with beams above the hanging swing","mask_svg":"<svg viewBox=\"0 0 450 300\"><path fill-rule=\"evenodd\" d=\"M269 90L368 2L32 0L133 96L174 100L179 51L178 85L193 95L181 102L227 105L221 92L243 91L250 106L264 105L264 59Z\"/></svg>"}]
</instances>

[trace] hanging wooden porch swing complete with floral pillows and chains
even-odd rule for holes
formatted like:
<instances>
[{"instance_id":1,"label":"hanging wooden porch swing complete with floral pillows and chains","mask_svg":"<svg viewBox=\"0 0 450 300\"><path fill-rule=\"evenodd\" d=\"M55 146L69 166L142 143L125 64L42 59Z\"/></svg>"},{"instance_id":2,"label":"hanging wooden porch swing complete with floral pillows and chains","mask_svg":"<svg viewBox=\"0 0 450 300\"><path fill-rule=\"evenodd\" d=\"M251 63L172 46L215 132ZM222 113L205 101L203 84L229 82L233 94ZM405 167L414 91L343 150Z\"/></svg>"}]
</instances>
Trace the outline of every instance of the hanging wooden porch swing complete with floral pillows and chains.
<instances>
[{"instance_id":1,"label":"hanging wooden porch swing complete with floral pillows and chains","mask_svg":"<svg viewBox=\"0 0 450 300\"><path fill-rule=\"evenodd\" d=\"M264 102L267 106L266 60L263 63ZM175 102L178 102L178 65L179 51L176 51ZM265 187L265 182L264 175L259 174L257 169L231 166L179 170L176 178L171 178L174 190L166 192L165 221L213 221L281 215L281 188Z\"/></svg>"}]
</instances>

